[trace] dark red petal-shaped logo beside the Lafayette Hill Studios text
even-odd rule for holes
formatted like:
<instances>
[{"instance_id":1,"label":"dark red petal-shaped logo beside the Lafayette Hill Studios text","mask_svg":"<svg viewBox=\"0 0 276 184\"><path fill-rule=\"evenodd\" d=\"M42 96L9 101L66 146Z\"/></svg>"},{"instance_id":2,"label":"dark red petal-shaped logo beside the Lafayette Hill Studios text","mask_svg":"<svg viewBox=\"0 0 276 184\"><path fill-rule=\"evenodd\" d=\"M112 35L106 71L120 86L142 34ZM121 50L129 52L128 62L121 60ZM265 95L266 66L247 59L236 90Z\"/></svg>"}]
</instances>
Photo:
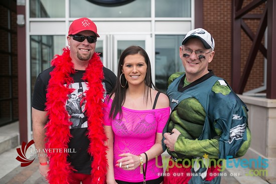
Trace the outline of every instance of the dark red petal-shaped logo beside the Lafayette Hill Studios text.
<instances>
[{"instance_id":1,"label":"dark red petal-shaped logo beside the Lafayette Hill Studios text","mask_svg":"<svg viewBox=\"0 0 276 184\"><path fill-rule=\"evenodd\" d=\"M26 167L28 165L30 165L31 163L33 163L33 161L35 160L35 158L33 160L29 160L27 157L26 157L26 151L27 149L32 145L34 144L35 141L34 140L31 140L30 142L28 142L28 144L26 145L26 142L22 142L22 145L21 145L21 148L17 148L17 153L19 156L16 157L16 159L18 161L21 162L21 166L22 167Z\"/></svg>"}]
</instances>

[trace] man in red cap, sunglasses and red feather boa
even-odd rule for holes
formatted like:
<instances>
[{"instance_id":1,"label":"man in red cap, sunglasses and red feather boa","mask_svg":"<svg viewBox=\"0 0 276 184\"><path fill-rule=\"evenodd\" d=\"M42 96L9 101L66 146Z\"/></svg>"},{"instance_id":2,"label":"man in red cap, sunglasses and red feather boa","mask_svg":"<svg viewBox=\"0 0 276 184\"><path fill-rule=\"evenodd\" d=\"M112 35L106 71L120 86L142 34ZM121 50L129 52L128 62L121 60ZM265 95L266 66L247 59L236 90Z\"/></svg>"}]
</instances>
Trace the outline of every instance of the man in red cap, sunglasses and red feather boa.
<instances>
[{"instance_id":1,"label":"man in red cap, sunglasses and red feather boa","mask_svg":"<svg viewBox=\"0 0 276 184\"><path fill-rule=\"evenodd\" d=\"M69 47L56 55L51 67L39 74L33 94L32 121L40 173L49 183L105 182L107 160L103 129L103 99L115 86L116 76L103 67L95 53L97 27L88 18L69 27ZM83 90L80 106L85 113L68 113L71 94ZM73 103L70 103L73 104ZM85 117L83 117L83 115ZM70 118L81 125L72 128Z\"/></svg>"}]
</instances>

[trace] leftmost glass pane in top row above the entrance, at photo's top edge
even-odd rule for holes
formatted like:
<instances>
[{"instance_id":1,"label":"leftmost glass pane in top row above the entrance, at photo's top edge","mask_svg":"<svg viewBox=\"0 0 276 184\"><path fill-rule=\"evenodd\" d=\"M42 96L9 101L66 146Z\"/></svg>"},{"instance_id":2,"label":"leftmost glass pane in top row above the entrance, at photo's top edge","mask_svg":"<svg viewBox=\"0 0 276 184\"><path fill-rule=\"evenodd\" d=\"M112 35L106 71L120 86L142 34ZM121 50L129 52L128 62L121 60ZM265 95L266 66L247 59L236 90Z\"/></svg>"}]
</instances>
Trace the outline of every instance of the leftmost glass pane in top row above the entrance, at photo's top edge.
<instances>
[{"instance_id":1,"label":"leftmost glass pane in top row above the entrance, at photo's top edge","mask_svg":"<svg viewBox=\"0 0 276 184\"><path fill-rule=\"evenodd\" d=\"M31 18L64 18L65 0L30 0Z\"/></svg>"}]
</instances>

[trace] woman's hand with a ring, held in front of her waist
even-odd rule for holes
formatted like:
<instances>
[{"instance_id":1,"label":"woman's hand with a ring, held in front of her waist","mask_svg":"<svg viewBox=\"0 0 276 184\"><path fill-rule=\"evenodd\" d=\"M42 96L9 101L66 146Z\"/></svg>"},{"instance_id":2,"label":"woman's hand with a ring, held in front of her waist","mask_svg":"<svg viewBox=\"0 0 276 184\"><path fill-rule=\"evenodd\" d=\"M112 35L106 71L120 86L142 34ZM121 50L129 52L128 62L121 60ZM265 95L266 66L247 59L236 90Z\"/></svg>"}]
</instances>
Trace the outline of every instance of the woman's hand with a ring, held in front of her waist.
<instances>
[{"instance_id":1,"label":"woman's hand with a ring, held in front of her waist","mask_svg":"<svg viewBox=\"0 0 276 184\"><path fill-rule=\"evenodd\" d=\"M124 170L134 170L140 165L140 158L137 155L131 153L119 154L121 159L116 161L116 167L120 167Z\"/></svg>"}]
</instances>

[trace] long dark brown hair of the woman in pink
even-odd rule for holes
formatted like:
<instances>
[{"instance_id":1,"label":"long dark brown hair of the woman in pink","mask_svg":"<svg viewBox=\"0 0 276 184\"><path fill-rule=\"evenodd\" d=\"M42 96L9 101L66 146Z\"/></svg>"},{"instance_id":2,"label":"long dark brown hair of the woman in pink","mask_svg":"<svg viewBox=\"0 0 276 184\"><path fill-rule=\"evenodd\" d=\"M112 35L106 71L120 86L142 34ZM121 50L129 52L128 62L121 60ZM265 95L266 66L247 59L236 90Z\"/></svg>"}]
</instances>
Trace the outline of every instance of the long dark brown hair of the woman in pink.
<instances>
[{"instance_id":1,"label":"long dark brown hair of the woman in pink","mask_svg":"<svg viewBox=\"0 0 276 184\"><path fill-rule=\"evenodd\" d=\"M152 67L151 67L150 58L149 58L147 52L139 46L130 46L130 47L126 48L122 52L120 59L119 59L118 73L117 73L117 80L116 80L115 88L109 94L108 101L110 100L111 96L114 95L114 98L113 98L113 101L111 104L110 113L109 113L109 118L112 117L112 119L115 119L115 117L118 113L121 116L122 106L125 101L125 93L126 93L126 89L128 88L128 84L126 82L124 74L122 74L122 66L124 64L124 58L128 55L134 55L134 54L140 54L141 56L143 56L145 59L145 62L147 64L147 73L146 73L146 77L145 77L146 88L144 91L144 101L146 100L146 103L148 103L149 94L151 97L151 88L154 88L157 90L157 88L153 84ZM121 74L122 74L122 76L120 78ZM124 84L126 84L125 87L121 87L120 83L123 86L124 86ZM152 97L151 97L151 101L152 101Z\"/></svg>"}]
</instances>

